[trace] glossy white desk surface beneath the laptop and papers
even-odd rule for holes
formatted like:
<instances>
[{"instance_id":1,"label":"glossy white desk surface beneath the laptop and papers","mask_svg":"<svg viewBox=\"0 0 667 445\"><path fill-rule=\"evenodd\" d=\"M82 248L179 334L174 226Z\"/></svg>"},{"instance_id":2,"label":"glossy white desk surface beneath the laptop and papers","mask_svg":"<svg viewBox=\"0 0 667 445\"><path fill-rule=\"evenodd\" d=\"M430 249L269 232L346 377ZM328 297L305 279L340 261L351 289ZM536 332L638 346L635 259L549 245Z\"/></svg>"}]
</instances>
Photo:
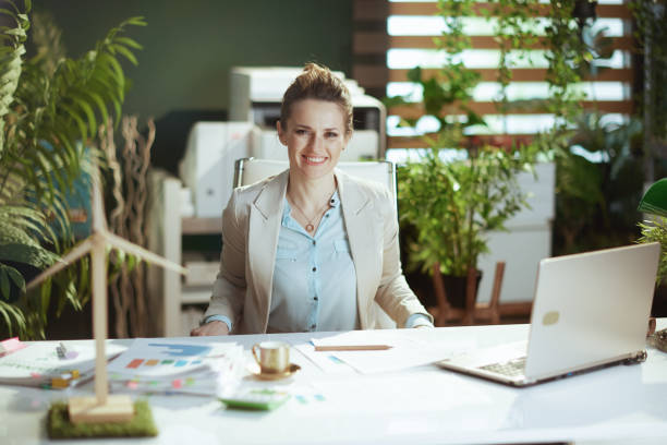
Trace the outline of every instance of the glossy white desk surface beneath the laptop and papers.
<instances>
[{"instance_id":1,"label":"glossy white desk surface beneath the laptop and papers","mask_svg":"<svg viewBox=\"0 0 667 445\"><path fill-rule=\"evenodd\" d=\"M658 327L667 327L667 318L660 320ZM488 346L523 339L527 326L403 329L401 333L451 342L452 347L471 340L476 346ZM267 337L302 341L312 335L232 336L227 340L250 348ZM640 365L613 366L521 389L435 365L375 375L324 374L295 350L292 358L302 366L292 377L292 385L315 388L325 396L324 401L303 402L292 398L275 411L253 412L227 410L206 397L150 396L160 434L141 443L667 443L667 353L653 349L648 350L647 361ZM74 390L92 394L93 386L86 384ZM57 390L0 386L0 443L48 443L46 410L51 399L63 397L66 394Z\"/></svg>"}]
</instances>

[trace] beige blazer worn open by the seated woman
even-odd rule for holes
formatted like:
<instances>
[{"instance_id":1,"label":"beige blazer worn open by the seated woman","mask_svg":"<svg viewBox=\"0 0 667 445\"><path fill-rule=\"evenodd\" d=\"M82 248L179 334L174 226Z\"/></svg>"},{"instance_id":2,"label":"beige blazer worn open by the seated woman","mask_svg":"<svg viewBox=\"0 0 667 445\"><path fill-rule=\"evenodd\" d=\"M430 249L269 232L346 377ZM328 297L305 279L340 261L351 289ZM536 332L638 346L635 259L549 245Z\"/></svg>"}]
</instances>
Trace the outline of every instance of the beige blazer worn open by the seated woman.
<instances>
[{"instance_id":1,"label":"beige blazer worn open by the seated woman","mask_svg":"<svg viewBox=\"0 0 667 445\"><path fill-rule=\"evenodd\" d=\"M377 183L352 178L338 169L335 175L356 268L362 329L379 327L375 302L399 327L414 313L430 317L401 270L398 220L389 192ZM228 316L234 334L267 332L288 179L289 170L286 170L265 181L235 189L222 213L220 272L204 316Z\"/></svg>"}]
</instances>

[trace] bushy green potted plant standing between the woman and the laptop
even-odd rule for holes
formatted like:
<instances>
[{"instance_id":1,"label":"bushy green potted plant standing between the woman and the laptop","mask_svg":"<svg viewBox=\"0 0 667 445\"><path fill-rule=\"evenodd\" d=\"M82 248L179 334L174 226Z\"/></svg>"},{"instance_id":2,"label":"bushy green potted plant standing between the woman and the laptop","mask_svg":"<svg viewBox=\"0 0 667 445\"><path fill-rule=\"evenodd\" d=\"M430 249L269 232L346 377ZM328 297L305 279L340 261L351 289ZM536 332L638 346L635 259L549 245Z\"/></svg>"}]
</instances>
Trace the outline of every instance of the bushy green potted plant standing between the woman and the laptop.
<instances>
[{"instance_id":1,"label":"bushy green potted plant standing between the woman and the laptop","mask_svg":"<svg viewBox=\"0 0 667 445\"><path fill-rule=\"evenodd\" d=\"M413 234L409 267L419 264L435 279L442 274L449 303L462 308L469 275L481 278L477 261L488 252L487 233L504 230L525 205L517 175L530 170L533 159L529 151L489 145L447 159L441 147L452 146L446 141L459 140L458 134L453 128L440 133L419 161L399 169L398 197L402 226Z\"/></svg>"}]
</instances>

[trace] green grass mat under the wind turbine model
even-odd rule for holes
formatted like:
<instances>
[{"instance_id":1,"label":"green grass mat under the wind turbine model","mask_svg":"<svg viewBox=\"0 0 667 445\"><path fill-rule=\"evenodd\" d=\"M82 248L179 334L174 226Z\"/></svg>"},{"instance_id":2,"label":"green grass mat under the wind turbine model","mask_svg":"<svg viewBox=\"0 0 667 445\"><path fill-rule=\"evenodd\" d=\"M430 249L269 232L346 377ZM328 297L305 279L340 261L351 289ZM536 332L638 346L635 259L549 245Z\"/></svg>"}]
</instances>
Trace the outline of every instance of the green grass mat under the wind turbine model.
<instances>
[{"instance_id":1,"label":"green grass mat under the wind turbine model","mask_svg":"<svg viewBox=\"0 0 667 445\"><path fill-rule=\"evenodd\" d=\"M68 404L51 404L47 414L47 433L49 438L84 437L146 437L158 434L150 406L146 400L134 402L134 418L129 422L72 423L68 413Z\"/></svg>"}]
</instances>

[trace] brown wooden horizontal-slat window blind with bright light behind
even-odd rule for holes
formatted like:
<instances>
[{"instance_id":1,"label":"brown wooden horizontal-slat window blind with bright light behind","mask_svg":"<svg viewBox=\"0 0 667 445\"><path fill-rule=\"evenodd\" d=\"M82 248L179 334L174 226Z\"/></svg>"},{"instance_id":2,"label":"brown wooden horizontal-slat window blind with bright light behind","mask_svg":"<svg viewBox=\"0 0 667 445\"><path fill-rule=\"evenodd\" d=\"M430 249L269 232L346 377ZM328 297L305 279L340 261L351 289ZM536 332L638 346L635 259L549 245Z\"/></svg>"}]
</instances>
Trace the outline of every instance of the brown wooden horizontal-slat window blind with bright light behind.
<instances>
[{"instance_id":1,"label":"brown wooden horizontal-slat window blind with bright light behind","mask_svg":"<svg viewBox=\"0 0 667 445\"><path fill-rule=\"evenodd\" d=\"M478 2L475 10L493 10L495 5ZM432 76L442 67L441 51L437 50L434 38L446 29L438 13L436 1L381 1L357 0L355 32L353 38L353 75L362 86L379 95L385 84L385 95L411 95L420 100L421 92L407 80L407 73L414 67L422 67L425 76ZM534 17L535 29L548 23L551 7L541 4L538 16ZM595 74L587 75L574 88L585 93L582 109L597 110L607 119L622 121L633 110L632 82L634 79L631 52L634 40L631 31L631 13L622 0L601 0L596 8L596 20L591 31L604 28L604 35L613 49L609 59L594 62ZM489 137L509 134L513 137L529 137L554 125L555 117L539 107L499 111L497 97L500 91L497 60L499 44L493 35L490 23L482 16L464 17L464 29L472 47L461 57L468 68L481 74L481 82L473 92L471 108L483 116L488 128L473 130L472 134L487 134ZM385 27L380 28L380 23ZM548 63L544 58L541 41L526 47L527 60L517 58L511 72L512 80L507 88L509 100L544 99L548 97L545 81ZM381 64L384 63L384 65ZM436 122L427 117L419 120L415 128L399 128L400 118L420 118L419 107L399 106L388 110L388 148L419 148L425 146L419 135L437 130Z\"/></svg>"}]
</instances>

